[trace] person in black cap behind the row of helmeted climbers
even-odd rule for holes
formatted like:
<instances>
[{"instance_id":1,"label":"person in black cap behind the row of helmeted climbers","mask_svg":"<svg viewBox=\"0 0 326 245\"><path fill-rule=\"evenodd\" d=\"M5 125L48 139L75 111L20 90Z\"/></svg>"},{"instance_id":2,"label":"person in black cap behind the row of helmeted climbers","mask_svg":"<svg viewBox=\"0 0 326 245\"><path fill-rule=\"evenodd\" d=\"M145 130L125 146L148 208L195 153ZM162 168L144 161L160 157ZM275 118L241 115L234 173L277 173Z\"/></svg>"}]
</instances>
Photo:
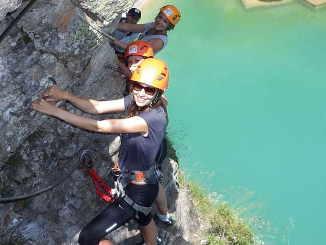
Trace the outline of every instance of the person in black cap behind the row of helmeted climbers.
<instances>
[{"instance_id":1,"label":"person in black cap behind the row of helmeted climbers","mask_svg":"<svg viewBox=\"0 0 326 245\"><path fill-rule=\"evenodd\" d=\"M137 24L138 21L140 20L142 16L142 13L139 9L132 8L127 12L127 15L125 18L121 18L120 22L126 22L128 24ZM123 32L118 29L116 29L113 33L113 36L117 38L120 42L129 44L132 42L134 39L137 38L139 33L136 32ZM122 48L118 47L117 45L114 46L115 53L119 56L119 54L123 55L125 50Z\"/></svg>"}]
</instances>

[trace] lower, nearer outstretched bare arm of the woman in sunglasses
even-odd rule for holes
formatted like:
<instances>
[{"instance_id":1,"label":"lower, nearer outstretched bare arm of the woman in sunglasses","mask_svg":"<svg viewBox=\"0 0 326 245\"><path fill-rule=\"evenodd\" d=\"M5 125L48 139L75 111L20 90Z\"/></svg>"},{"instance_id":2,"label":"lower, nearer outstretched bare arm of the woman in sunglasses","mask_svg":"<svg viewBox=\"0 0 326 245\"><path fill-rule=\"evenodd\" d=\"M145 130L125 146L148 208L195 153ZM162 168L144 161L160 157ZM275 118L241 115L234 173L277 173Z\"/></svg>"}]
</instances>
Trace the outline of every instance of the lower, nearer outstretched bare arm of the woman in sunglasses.
<instances>
[{"instance_id":1,"label":"lower, nearer outstretched bare arm of the woman in sunglasses","mask_svg":"<svg viewBox=\"0 0 326 245\"><path fill-rule=\"evenodd\" d=\"M148 126L146 121L139 117L133 116L125 119L107 119L95 120L89 117L73 114L61 108L51 105L43 99L38 99L31 104L32 109L43 114L55 116L68 124L103 133L142 133L148 134Z\"/></svg>"}]
</instances>

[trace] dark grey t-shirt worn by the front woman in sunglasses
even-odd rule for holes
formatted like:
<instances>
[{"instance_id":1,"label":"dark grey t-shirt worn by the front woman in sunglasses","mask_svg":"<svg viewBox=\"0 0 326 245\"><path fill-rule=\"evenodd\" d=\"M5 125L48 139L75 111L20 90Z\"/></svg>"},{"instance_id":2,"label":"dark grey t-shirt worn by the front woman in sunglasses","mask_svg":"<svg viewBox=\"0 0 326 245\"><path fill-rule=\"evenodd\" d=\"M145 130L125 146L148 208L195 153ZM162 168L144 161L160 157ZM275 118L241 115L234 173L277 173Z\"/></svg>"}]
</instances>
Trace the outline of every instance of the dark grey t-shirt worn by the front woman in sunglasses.
<instances>
[{"instance_id":1,"label":"dark grey t-shirt worn by the front woman in sunglasses","mask_svg":"<svg viewBox=\"0 0 326 245\"><path fill-rule=\"evenodd\" d=\"M130 95L124 97L125 114L128 114L132 98ZM148 136L141 133L120 134L121 148L119 151L118 164L121 171L146 171L155 163L156 154L167 129L167 119L164 109L159 106L139 113L148 126ZM155 174L146 182L154 184L157 179Z\"/></svg>"}]
</instances>

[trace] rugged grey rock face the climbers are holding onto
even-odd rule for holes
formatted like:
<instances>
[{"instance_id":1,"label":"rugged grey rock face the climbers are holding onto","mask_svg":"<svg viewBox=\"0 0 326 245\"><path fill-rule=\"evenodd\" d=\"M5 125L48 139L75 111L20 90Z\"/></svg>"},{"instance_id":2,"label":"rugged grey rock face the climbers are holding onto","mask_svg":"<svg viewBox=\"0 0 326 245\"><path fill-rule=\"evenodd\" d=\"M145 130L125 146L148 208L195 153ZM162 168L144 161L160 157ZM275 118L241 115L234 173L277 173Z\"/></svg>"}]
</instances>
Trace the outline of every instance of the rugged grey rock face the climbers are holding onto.
<instances>
[{"instance_id":1,"label":"rugged grey rock face the climbers are holding onto","mask_svg":"<svg viewBox=\"0 0 326 245\"><path fill-rule=\"evenodd\" d=\"M0 15L0 33L30 3L5 2L10 4L6 8L2 5L0 12L10 13ZM40 195L0 202L0 232L17 226L19 233L39 244L72 244L80 229L107 205L95 194L88 171L78 163L78 157L83 150L90 149L94 168L103 181L110 183L108 171L119 145L117 135L81 130L35 111L19 117L10 112L28 109L30 102L52 85L49 77L59 87L80 97L96 100L122 97L124 79L105 68L108 64L115 66L113 48L89 29L76 12L82 9L98 26L112 32L120 13L133 2L38 0L0 43L0 198L40 191L75 169L63 183ZM69 103L55 104L83 114ZM88 116L104 119L117 115ZM196 233L200 230L197 212L187 191L175 188L173 166L166 159L164 184L178 227L167 229L159 225L159 231L165 244L200 244ZM140 240L133 222L109 237L117 244Z\"/></svg>"}]
</instances>

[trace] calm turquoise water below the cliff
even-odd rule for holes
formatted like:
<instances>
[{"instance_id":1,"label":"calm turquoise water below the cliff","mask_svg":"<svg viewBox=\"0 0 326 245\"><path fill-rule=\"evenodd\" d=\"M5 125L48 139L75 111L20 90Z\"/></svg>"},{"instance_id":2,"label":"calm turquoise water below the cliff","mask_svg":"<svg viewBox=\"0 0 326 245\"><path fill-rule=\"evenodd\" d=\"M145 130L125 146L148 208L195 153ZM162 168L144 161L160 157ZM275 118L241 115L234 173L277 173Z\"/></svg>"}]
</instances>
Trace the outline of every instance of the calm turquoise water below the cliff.
<instances>
[{"instance_id":1,"label":"calm turquoise water below the cliff","mask_svg":"<svg viewBox=\"0 0 326 245\"><path fill-rule=\"evenodd\" d=\"M230 206L251 207L242 215L265 244L324 244L326 8L157 2L141 21L166 4L182 10L157 55L170 70L168 131L182 168Z\"/></svg>"}]
</instances>

